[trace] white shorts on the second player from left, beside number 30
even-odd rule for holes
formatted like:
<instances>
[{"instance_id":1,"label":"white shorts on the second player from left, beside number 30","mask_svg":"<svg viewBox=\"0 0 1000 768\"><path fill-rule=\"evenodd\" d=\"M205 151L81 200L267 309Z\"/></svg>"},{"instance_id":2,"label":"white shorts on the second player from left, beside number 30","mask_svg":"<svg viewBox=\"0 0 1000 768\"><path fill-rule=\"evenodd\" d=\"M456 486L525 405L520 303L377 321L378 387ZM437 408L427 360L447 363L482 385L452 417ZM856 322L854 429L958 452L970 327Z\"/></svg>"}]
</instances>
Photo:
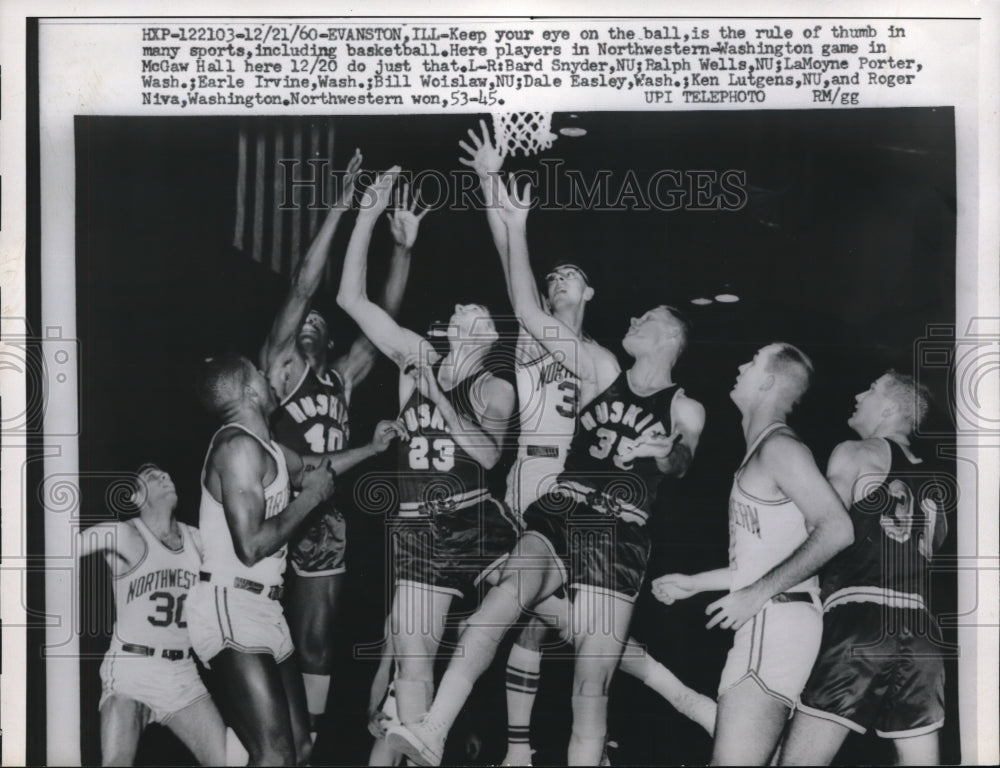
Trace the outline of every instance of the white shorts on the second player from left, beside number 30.
<instances>
[{"instance_id":1,"label":"white shorts on the second player from left, beside number 30","mask_svg":"<svg viewBox=\"0 0 1000 768\"><path fill-rule=\"evenodd\" d=\"M202 581L191 590L186 608L191 645L206 666L226 648L269 653L279 664L295 650L277 600Z\"/></svg>"}]
</instances>

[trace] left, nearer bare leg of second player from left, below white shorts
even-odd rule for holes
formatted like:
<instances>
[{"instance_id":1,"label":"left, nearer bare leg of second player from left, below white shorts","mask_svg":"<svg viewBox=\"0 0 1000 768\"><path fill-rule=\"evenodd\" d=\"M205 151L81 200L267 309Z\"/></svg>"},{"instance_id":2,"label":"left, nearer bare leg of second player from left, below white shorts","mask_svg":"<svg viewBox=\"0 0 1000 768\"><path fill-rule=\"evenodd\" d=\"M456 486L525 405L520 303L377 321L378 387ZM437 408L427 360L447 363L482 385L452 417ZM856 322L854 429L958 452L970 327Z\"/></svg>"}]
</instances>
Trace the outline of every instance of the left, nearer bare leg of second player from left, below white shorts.
<instances>
[{"instance_id":1,"label":"left, nearer bare leg of second player from left, below white shorts","mask_svg":"<svg viewBox=\"0 0 1000 768\"><path fill-rule=\"evenodd\" d=\"M250 765L295 765L296 739L274 657L226 648L212 659L212 668L221 676L223 707Z\"/></svg>"}]
</instances>

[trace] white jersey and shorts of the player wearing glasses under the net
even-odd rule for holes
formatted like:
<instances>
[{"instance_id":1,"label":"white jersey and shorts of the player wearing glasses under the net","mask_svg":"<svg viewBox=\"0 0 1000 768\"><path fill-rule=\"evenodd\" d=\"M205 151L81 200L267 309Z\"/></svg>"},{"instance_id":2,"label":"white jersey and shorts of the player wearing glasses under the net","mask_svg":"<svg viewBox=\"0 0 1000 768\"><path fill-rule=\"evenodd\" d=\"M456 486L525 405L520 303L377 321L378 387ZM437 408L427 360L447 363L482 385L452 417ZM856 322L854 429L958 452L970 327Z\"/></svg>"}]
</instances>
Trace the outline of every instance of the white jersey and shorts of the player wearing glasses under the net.
<instances>
[{"instance_id":1,"label":"white jersey and shorts of the player wearing glasses under the net","mask_svg":"<svg viewBox=\"0 0 1000 768\"><path fill-rule=\"evenodd\" d=\"M553 355L523 330L518 337L514 372L517 381L517 460L507 477L507 505L520 515L556 483L576 431L579 379L561 363L576 339L566 340L566 355Z\"/></svg>"}]
</instances>

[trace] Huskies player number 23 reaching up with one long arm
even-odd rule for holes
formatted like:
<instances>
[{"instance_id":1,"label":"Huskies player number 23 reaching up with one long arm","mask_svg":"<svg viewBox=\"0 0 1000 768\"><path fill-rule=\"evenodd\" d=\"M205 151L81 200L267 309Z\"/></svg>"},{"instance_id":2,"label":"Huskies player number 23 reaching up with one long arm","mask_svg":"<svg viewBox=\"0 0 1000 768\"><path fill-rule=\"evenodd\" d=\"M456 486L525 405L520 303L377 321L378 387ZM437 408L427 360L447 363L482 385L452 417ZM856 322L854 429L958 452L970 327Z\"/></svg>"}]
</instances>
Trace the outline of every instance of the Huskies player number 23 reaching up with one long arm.
<instances>
[{"instance_id":1,"label":"Huskies player number 23 reaching up with one long arm","mask_svg":"<svg viewBox=\"0 0 1000 768\"><path fill-rule=\"evenodd\" d=\"M489 311L456 305L448 353L441 358L365 293L372 229L398 171L393 167L366 192L337 302L401 371L408 441L399 445L400 506L390 521L396 572L390 634L398 665L396 704L407 723L430 703L434 658L452 598L494 571L517 534L486 489L486 471L500 458L514 408L513 387L484 365L498 339Z\"/></svg>"}]
</instances>

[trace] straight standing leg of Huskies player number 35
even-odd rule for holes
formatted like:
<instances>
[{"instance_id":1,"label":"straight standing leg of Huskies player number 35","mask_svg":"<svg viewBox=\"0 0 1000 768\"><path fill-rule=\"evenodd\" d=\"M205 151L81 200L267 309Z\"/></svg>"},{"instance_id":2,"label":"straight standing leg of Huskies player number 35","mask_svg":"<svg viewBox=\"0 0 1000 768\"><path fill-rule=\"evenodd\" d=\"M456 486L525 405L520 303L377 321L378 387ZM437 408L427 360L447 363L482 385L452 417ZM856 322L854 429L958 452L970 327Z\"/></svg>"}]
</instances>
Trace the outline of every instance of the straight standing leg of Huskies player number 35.
<instances>
[{"instance_id":1,"label":"straight standing leg of Huskies player number 35","mask_svg":"<svg viewBox=\"0 0 1000 768\"><path fill-rule=\"evenodd\" d=\"M608 688L621 660L632 603L605 590L580 589L570 627L576 649L569 765L598 765L608 730Z\"/></svg>"}]
</instances>

